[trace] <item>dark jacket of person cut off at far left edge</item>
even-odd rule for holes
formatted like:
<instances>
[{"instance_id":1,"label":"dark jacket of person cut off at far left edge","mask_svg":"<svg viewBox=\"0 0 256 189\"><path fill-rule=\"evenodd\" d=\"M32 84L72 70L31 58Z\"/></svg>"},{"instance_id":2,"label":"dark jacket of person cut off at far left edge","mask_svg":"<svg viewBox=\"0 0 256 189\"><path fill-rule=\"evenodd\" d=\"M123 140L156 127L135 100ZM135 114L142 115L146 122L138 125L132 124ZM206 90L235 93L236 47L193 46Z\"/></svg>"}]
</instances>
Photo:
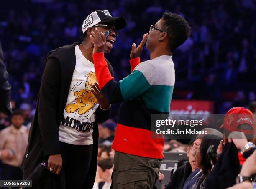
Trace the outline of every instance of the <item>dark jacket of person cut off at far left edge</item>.
<instances>
[{"instance_id":1,"label":"dark jacket of person cut off at far left edge","mask_svg":"<svg viewBox=\"0 0 256 189\"><path fill-rule=\"evenodd\" d=\"M10 108L11 86L8 82L8 72L3 63L3 51L0 42L0 112L10 115L12 110Z\"/></svg>"}]
</instances>

